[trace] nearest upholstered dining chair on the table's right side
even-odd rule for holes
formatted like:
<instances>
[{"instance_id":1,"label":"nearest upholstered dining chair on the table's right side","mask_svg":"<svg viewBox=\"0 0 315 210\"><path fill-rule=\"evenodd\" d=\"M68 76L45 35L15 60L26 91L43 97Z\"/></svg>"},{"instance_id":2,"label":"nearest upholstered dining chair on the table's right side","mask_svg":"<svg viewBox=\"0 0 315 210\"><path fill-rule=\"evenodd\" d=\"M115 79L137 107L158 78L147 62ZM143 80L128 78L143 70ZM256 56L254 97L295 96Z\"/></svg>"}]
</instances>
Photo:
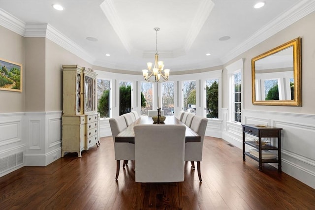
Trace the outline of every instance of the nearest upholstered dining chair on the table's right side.
<instances>
[{"instance_id":1,"label":"nearest upholstered dining chair on the table's right side","mask_svg":"<svg viewBox=\"0 0 315 210\"><path fill-rule=\"evenodd\" d=\"M197 162L199 181L202 181L200 172L200 162L202 160L203 139L207 128L207 123L208 123L207 118L194 116L191 121L190 129L200 136L200 142L187 142L185 144L185 161L190 161L193 169L195 168L194 161Z\"/></svg>"}]
</instances>

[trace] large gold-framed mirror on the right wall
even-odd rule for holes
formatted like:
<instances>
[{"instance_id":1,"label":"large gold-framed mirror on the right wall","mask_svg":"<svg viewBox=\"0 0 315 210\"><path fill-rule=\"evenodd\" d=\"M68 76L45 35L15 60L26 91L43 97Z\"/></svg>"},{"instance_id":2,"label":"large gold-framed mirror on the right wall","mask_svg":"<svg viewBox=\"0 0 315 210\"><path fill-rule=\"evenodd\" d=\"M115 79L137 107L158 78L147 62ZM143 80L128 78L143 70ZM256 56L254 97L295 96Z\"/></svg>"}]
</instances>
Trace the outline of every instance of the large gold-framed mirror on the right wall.
<instances>
[{"instance_id":1,"label":"large gold-framed mirror on the right wall","mask_svg":"<svg viewBox=\"0 0 315 210\"><path fill-rule=\"evenodd\" d=\"M301 106L301 38L252 59L252 104Z\"/></svg>"}]
</instances>

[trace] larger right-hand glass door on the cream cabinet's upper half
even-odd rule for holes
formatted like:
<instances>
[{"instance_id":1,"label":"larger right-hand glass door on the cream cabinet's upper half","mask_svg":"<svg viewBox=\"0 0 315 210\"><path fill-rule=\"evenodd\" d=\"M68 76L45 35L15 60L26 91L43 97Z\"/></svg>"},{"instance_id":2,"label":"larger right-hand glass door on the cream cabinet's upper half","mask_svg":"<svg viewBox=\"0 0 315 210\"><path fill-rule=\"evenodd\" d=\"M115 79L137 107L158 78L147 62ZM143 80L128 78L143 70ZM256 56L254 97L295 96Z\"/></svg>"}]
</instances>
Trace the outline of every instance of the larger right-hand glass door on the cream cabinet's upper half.
<instances>
[{"instance_id":1,"label":"larger right-hand glass door on the cream cabinet's upper half","mask_svg":"<svg viewBox=\"0 0 315 210\"><path fill-rule=\"evenodd\" d=\"M95 111L95 79L85 76L85 112Z\"/></svg>"}]
</instances>

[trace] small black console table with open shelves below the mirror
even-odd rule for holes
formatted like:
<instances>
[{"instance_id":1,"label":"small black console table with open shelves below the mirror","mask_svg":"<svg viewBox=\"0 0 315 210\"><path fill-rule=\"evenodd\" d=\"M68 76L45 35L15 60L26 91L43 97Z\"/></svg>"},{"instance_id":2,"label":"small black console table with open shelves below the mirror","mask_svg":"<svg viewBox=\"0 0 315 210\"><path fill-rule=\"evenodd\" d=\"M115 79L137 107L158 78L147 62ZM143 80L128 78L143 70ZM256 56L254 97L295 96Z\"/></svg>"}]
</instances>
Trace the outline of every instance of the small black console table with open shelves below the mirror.
<instances>
[{"instance_id":1,"label":"small black console table with open shelves below the mirror","mask_svg":"<svg viewBox=\"0 0 315 210\"><path fill-rule=\"evenodd\" d=\"M249 156L252 159L259 162L259 171L262 170L262 163L278 163L278 171L281 171L281 130L282 128L268 126L268 125L256 125L256 124L242 124L243 126L243 160L245 156ZM246 134L258 137L256 141L245 141ZM265 144L261 142L261 138L278 138L277 146L271 143ZM249 145L258 150L258 158L252 155L250 152L245 151L245 145ZM278 150L278 157L276 159L263 159L263 150Z\"/></svg>"}]
</instances>

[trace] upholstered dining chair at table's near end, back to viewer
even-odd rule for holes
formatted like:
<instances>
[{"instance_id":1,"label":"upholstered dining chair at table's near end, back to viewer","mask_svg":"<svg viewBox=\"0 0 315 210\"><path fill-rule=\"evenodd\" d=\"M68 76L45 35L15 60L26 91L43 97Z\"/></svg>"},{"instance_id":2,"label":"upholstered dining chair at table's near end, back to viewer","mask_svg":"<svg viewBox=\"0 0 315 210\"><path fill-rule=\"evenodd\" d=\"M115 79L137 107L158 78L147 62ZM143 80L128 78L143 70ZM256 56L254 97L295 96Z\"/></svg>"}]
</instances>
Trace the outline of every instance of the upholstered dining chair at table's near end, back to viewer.
<instances>
[{"instance_id":1,"label":"upholstered dining chair at table's near end, back to viewer","mask_svg":"<svg viewBox=\"0 0 315 210\"><path fill-rule=\"evenodd\" d=\"M185 130L185 125L134 126L135 181L178 182L180 208L183 205ZM141 183L139 186L138 192L141 192ZM140 199L138 196L138 208Z\"/></svg>"}]
</instances>

